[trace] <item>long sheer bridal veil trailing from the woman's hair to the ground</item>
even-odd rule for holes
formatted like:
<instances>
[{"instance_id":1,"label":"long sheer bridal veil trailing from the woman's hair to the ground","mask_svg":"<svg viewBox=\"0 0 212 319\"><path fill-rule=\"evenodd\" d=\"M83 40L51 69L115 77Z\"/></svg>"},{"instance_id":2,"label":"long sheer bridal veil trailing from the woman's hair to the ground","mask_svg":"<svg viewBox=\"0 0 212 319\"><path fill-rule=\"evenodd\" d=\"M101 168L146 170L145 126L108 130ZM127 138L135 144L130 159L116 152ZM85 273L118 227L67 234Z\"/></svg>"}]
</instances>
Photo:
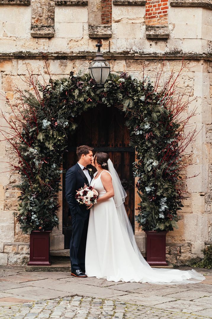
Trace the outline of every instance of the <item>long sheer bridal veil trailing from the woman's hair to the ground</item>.
<instances>
[{"instance_id":1,"label":"long sheer bridal veil trailing from the woman's hair to the ground","mask_svg":"<svg viewBox=\"0 0 212 319\"><path fill-rule=\"evenodd\" d=\"M118 218L121 225L121 231L124 237L128 236L132 248L140 260L142 269L141 282L149 282L152 284L161 285L174 285L174 284L188 284L198 283L205 279L205 277L195 270L181 271L178 269L163 269L163 268L151 268L150 265L143 258L140 250L135 241L134 233L130 221L128 219L127 212L124 207L125 197L127 196L123 186L121 185L120 178L113 167L113 163L110 159L107 161L108 171L112 176L113 189L114 189L114 203L117 209Z\"/></svg>"}]
</instances>

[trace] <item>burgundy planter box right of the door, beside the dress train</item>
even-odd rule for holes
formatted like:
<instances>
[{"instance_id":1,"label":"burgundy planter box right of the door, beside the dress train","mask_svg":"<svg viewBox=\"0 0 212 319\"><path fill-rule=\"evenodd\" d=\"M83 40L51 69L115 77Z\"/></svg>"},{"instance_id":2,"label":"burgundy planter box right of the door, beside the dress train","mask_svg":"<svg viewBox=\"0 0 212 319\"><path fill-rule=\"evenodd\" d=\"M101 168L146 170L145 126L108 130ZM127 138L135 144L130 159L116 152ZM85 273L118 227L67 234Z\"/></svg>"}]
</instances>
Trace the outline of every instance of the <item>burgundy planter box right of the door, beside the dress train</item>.
<instances>
[{"instance_id":1,"label":"burgundy planter box right of the door, beside the dress train","mask_svg":"<svg viewBox=\"0 0 212 319\"><path fill-rule=\"evenodd\" d=\"M166 263L166 231L145 231L147 263L150 266L167 266Z\"/></svg>"}]
</instances>

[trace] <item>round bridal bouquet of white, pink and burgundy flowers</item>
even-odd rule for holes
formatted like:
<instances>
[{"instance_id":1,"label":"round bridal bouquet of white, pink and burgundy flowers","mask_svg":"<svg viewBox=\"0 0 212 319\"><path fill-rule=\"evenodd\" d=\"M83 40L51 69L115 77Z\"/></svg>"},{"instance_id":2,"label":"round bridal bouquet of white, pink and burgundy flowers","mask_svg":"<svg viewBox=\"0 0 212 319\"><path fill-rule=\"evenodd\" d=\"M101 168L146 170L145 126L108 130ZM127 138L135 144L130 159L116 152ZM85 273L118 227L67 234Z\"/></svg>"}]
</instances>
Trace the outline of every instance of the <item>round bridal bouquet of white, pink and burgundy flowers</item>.
<instances>
[{"instance_id":1,"label":"round bridal bouquet of white, pink and burgundy flowers","mask_svg":"<svg viewBox=\"0 0 212 319\"><path fill-rule=\"evenodd\" d=\"M80 188L75 195L75 198L79 204L91 205L96 204L97 198L99 197L99 192L92 186L87 186Z\"/></svg>"}]
</instances>

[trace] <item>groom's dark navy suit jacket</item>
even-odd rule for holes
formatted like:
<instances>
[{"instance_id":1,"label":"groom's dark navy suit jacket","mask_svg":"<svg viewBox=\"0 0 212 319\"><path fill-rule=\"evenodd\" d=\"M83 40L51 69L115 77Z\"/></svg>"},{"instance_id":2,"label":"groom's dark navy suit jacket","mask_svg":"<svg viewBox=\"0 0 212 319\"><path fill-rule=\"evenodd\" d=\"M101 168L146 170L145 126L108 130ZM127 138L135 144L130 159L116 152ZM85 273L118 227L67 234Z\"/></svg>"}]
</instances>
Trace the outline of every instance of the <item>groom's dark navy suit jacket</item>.
<instances>
[{"instance_id":1,"label":"groom's dark navy suit jacket","mask_svg":"<svg viewBox=\"0 0 212 319\"><path fill-rule=\"evenodd\" d=\"M90 173L89 173L90 174ZM89 182L81 167L76 164L68 169L65 178L66 200L69 204L69 214L79 214L86 217L90 210L86 209L86 205L79 205L75 199L77 190L84 187L84 184L89 186Z\"/></svg>"}]
</instances>

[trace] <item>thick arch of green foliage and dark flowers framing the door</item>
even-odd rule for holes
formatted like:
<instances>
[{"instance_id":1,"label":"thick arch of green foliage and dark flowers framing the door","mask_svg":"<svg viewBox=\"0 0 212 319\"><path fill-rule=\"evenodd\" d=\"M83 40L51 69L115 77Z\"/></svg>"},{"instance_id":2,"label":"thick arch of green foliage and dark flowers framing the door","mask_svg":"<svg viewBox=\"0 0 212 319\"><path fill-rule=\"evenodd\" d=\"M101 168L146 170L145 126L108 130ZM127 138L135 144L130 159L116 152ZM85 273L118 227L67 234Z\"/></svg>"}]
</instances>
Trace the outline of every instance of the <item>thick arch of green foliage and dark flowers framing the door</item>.
<instances>
[{"instance_id":1,"label":"thick arch of green foliage and dark flowers framing the door","mask_svg":"<svg viewBox=\"0 0 212 319\"><path fill-rule=\"evenodd\" d=\"M18 144L22 182L16 216L23 231L52 230L58 224L57 194L67 134L76 130L75 118L98 103L122 106L126 112L130 145L137 152L133 164L141 198L137 222L144 230L177 227L182 204L176 187L180 178L178 145L173 141L177 141L179 124L172 121L171 111L161 102L165 93L155 92L149 80L138 81L126 73L110 74L99 90L88 74L74 76L73 72L69 78L50 80L38 88L40 101L32 94L25 99L26 125ZM176 156L166 159L170 145Z\"/></svg>"}]
</instances>

